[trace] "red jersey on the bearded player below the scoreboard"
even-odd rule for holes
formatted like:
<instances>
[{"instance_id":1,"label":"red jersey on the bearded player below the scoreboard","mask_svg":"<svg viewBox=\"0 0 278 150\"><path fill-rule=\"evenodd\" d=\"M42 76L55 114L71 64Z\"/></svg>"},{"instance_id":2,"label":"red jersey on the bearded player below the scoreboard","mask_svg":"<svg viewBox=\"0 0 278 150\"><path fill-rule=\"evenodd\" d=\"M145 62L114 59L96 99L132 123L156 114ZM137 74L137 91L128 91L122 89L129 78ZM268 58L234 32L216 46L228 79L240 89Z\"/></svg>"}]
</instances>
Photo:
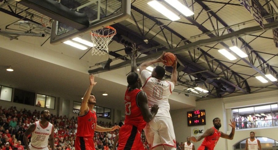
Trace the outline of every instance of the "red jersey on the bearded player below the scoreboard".
<instances>
[{"instance_id":1,"label":"red jersey on the bearded player below the scoreboard","mask_svg":"<svg viewBox=\"0 0 278 150\"><path fill-rule=\"evenodd\" d=\"M207 147L208 150L213 150L213 148L215 147L215 145L217 144L217 141L219 140L219 138L221 136L220 131L218 131L214 127L212 127L212 129L214 129L213 134L210 135L210 136L205 137L205 140L201 144L201 145Z\"/></svg>"}]
</instances>

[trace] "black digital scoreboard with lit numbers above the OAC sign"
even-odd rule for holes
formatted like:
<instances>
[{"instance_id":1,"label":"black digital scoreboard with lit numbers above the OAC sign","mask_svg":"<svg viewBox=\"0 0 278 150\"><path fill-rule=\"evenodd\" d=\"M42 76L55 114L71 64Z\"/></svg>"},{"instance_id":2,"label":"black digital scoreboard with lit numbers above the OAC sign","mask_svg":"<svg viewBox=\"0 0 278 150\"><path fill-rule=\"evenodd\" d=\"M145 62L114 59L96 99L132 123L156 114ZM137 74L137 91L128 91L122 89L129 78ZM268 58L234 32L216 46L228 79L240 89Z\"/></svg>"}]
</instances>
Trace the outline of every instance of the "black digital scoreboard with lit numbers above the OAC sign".
<instances>
[{"instance_id":1,"label":"black digital scoreboard with lit numbers above the OAC sign","mask_svg":"<svg viewBox=\"0 0 278 150\"><path fill-rule=\"evenodd\" d=\"M206 124L205 110L188 111L187 112L187 125L197 126Z\"/></svg>"}]
</instances>

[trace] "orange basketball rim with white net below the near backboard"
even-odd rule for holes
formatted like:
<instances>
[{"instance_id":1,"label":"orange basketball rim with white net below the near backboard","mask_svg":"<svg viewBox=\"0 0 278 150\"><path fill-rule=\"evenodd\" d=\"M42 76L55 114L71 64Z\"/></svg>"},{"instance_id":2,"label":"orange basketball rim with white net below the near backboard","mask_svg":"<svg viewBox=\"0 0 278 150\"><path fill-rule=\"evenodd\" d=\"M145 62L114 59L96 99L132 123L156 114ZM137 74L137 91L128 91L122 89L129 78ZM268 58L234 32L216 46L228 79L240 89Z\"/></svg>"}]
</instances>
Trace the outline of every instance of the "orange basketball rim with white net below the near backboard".
<instances>
[{"instance_id":1,"label":"orange basketball rim with white net below the near backboard","mask_svg":"<svg viewBox=\"0 0 278 150\"><path fill-rule=\"evenodd\" d=\"M92 47L92 55L104 55L109 53L108 43L116 33L116 29L110 26L91 32L94 44Z\"/></svg>"}]
</instances>

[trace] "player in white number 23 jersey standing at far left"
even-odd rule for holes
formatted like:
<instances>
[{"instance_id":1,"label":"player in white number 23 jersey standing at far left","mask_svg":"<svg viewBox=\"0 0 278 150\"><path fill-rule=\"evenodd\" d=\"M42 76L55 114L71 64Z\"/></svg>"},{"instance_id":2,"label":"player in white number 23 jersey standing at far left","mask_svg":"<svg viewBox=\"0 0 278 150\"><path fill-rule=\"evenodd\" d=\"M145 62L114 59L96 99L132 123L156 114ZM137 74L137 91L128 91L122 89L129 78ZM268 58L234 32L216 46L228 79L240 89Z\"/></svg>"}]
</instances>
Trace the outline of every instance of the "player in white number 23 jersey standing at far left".
<instances>
[{"instance_id":1,"label":"player in white number 23 jersey standing at far left","mask_svg":"<svg viewBox=\"0 0 278 150\"><path fill-rule=\"evenodd\" d=\"M49 122L50 112L41 112L41 121L37 121L29 126L23 136L26 150L48 150L48 139L50 147L54 150L54 126ZM31 142L28 145L27 137L32 133Z\"/></svg>"}]
</instances>

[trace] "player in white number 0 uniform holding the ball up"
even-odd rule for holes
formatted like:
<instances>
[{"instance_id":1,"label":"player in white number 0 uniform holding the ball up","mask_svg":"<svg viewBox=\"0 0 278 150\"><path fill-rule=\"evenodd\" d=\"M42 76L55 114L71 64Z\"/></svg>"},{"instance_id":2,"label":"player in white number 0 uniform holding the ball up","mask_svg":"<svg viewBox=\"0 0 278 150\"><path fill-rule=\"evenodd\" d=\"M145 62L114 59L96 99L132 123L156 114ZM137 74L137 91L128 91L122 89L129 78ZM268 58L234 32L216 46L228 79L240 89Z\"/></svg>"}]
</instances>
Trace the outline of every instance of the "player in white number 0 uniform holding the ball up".
<instances>
[{"instance_id":1,"label":"player in white number 0 uniform holding the ball up","mask_svg":"<svg viewBox=\"0 0 278 150\"><path fill-rule=\"evenodd\" d=\"M145 135L151 149L166 150L176 149L176 137L173 128L173 122L170 116L170 105L168 98L171 95L175 84L177 83L177 59L173 65L172 77L170 81L163 81L165 69L161 66L153 68L150 74L146 68L158 62L164 62L163 54L152 61L143 62L139 66L142 83L142 90L146 92L148 97L148 105L151 108L157 104L159 109L153 120L147 123L145 127Z\"/></svg>"}]
</instances>

